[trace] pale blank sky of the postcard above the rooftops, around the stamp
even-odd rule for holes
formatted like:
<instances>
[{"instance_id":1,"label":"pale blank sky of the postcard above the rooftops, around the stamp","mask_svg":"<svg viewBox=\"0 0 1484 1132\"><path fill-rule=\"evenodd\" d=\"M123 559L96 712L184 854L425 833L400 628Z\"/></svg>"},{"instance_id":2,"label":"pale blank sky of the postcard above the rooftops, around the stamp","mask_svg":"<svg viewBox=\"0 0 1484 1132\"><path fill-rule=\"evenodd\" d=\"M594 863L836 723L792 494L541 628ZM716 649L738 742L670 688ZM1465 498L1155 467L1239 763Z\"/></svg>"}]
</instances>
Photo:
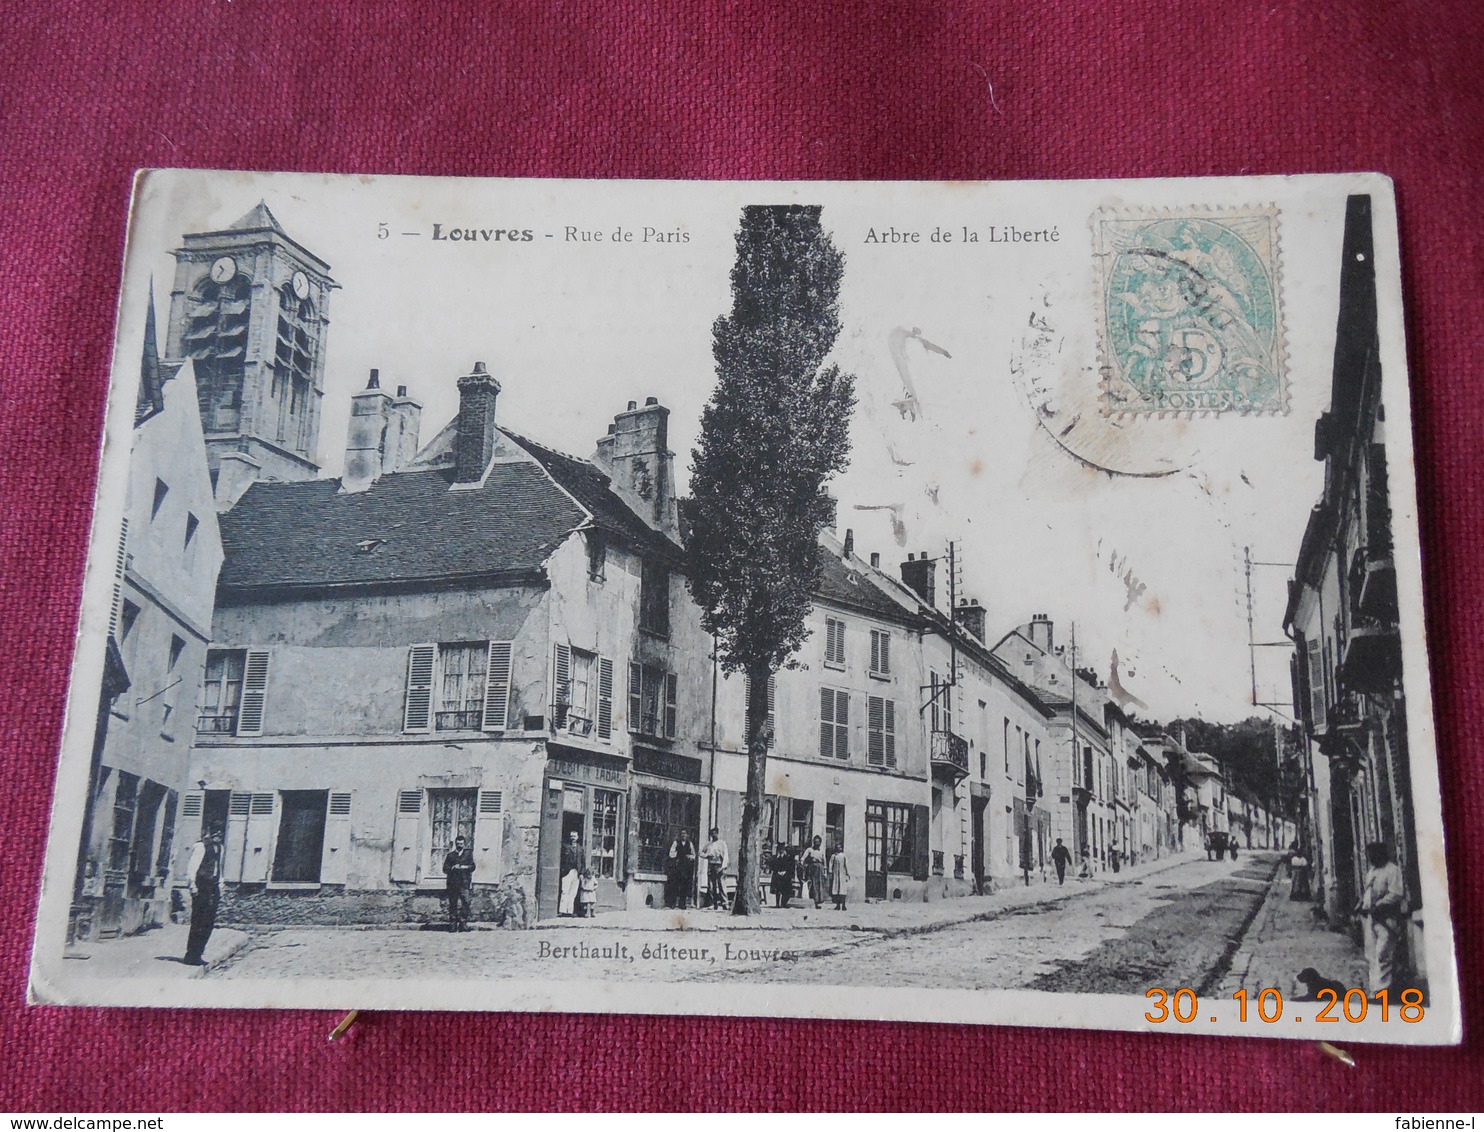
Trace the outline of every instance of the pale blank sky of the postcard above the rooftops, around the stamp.
<instances>
[{"instance_id":1,"label":"pale blank sky of the postcard above the rooftops, around the stamp","mask_svg":"<svg viewBox=\"0 0 1484 1132\"><path fill-rule=\"evenodd\" d=\"M426 442L454 415L457 378L482 361L502 383L497 418L576 455L594 451L626 402L657 396L684 485L715 381L711 328L730 306L741 209L819 203L846 263L834 361L855 375L858 407L850 467L831 491L858 553L879 552L895 571L908 552L941 558L956 540L960 596L987 607L991 642L1045 613L1058 642L1074 626L1079 665L1104 679L1116 651L1138 714L1229 721L1263 714L1252 706L1248 549L1278 564L1251 571L1251 638L1282 641L1285 564L1322 488L1313 423L1330 396L1347 191L1355 182L1343 178L687 184L157 172L134 209L116 381L137 380L150 277L165 325L181 236L224 228L266 200L338 283L319 438L326 475L340 470L349 396L370 368L423 404ZM1287 412L1103 415L1092 218L1214 206L1276 208ZM1377 215L1385 226L1389 209ZM530 230L531 240L435 240L435 226L442 236ZM1012 228L1039 236L1008 242ZM935 230L953 239L935 240ZM966 242L968 231L979 240ZM1377 255L1393 260L1395 239L1377 233ZM939 567L939 585L945 574ZM1257 650L1257 684L1258 700L1288 699L1285 648Z\"/></svg>"}]
</instances>

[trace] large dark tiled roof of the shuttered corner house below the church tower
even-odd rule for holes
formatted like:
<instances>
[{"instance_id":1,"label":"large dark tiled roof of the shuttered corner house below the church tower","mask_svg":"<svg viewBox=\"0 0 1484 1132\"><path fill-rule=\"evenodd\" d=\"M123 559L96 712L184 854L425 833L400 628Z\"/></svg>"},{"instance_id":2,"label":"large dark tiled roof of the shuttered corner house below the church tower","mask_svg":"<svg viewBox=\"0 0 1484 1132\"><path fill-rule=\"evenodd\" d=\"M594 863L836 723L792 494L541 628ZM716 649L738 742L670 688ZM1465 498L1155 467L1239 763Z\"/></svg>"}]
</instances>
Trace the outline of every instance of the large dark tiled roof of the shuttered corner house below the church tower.
<instances>
[{"instance_id":1,"label":"large dark tiled roof of the shuttered corner house below the church tower","mask_svg":"<svg viewBox=\"0 0 1484 1132\"><path fill-rule=\"evenodd\" d=\"M451 478L398 472L353 494L254 484L221 516L221 595L530 574L588 518L536 464L497 463L467 490Z\"/></svg>"}]
</instances>

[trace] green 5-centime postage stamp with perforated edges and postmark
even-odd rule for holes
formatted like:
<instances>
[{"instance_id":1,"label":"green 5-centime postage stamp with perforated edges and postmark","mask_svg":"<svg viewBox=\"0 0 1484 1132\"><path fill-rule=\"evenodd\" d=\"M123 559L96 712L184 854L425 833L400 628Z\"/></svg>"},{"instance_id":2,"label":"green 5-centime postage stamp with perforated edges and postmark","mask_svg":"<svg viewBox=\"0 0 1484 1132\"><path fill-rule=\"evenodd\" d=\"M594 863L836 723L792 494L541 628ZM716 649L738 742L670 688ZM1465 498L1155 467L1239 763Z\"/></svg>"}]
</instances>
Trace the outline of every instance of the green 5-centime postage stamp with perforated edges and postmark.
<instances>
[{"instance_id":1,"label":"green 5-centime postage stamp with perforated edges and postmark","mask_svg":"<svg viewBox=\"0 0 1484 1132\"><path fill-rule=\"evenodd\" d=\"M1288 409L1278 209L1101 209L1103 412Z\"/></svg>"}]
</instances>

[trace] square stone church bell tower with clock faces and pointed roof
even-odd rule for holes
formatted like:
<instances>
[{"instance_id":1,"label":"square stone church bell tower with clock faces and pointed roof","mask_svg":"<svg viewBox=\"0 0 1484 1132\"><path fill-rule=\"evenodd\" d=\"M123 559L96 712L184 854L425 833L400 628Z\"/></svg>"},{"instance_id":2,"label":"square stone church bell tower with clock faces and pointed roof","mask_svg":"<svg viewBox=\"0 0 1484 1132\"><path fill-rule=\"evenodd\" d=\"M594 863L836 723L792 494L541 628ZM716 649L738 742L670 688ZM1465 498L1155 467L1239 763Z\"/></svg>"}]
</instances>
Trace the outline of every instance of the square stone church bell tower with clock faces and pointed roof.
<instances>
[{"instance_id":1,"label":"square stone church bell tower with clock faces and pointed roof","mask_svg":"<svg viewBox=\"0 0 1484 1132\"><path fill-rule=\"evenodd\" d=\"M193 362L206 461L220 507L255 479L319 473L329 264L267 205L221 231L184 236L166 362Z\"/></svg>"}]
</instances>

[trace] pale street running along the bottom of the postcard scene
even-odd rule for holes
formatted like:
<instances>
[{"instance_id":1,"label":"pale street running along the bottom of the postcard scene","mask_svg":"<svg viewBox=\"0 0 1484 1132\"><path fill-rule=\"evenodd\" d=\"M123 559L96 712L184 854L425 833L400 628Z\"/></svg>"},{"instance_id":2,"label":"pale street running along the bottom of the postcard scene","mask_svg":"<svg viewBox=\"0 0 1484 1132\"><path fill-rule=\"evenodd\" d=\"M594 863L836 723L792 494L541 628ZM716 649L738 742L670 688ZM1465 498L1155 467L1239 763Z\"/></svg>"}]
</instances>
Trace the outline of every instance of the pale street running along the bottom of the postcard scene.
<instances>
[{"instance_id":1,"label":"pale street running along the bottom of the postcard scene","mask_svg":"<svg viewBox=\"0 0 1484 1132\"><path fill-rule=\"evenodd\" d=\"M708 911L562 921L533 932L260 930L211 979L638 979L965 990L1143 991L1218 975L1266 893L1276 855L1184 858L1110 883L1012 889L984 899ZM635 918L638 915L638 918ZM954 918L956 917L956 918Z\"/></svg>"}]
</instances>

